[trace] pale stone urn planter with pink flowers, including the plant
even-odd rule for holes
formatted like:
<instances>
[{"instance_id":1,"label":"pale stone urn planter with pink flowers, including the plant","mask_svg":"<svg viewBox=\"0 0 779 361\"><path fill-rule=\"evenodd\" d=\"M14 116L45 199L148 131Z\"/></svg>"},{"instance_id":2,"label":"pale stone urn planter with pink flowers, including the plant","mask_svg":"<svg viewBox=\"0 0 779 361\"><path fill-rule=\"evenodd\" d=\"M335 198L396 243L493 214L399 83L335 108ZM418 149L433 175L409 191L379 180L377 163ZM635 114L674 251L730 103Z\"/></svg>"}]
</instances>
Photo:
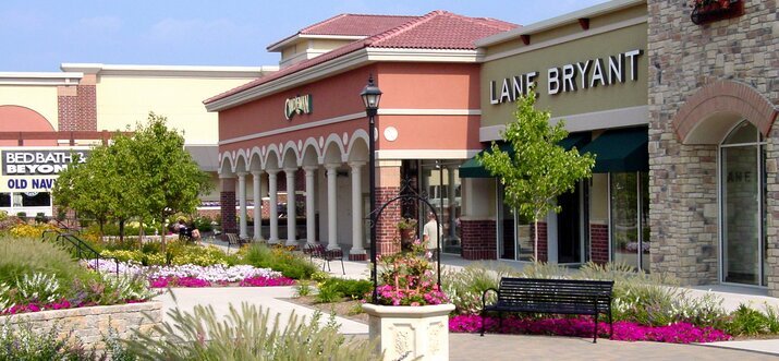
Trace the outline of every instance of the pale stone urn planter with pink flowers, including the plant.
<instances>
[{"instance_id":1,"label":"pale stone urn planter with pink flowers, including the plant","mask_svg":"<svg viewBox=\"0 0 779 361\"><path fill-rule=\"evenodd\" d=\"M454 305L436 284L431 257L417 239L409 251L377 258L377 299L363 310L370 337L380 340L387 360L449 359L449 313Z\"/></svg>"}]
</instances>

